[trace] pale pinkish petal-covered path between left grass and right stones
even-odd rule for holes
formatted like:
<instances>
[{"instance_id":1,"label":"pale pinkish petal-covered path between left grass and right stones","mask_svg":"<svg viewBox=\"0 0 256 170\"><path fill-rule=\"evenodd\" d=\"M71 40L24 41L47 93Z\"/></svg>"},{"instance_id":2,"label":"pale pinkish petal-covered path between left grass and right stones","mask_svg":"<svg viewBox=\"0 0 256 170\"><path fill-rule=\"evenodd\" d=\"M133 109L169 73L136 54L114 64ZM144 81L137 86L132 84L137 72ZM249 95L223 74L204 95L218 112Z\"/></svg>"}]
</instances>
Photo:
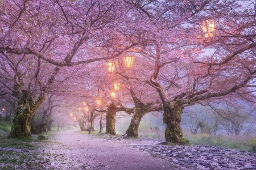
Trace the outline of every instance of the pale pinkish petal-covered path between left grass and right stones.
<instances>
[{"instance_id":1,"label":"pale pinkish petal-covered path between left grass and right stones","mask_svg":"<svg viewBox=\"0 0 256 170\"><path fill-rule=\"evenodd\" d=\"M154 158L133 145L152 145L152 141L109 139L79 134L78 130L59 131L50 138L44 152L56 154L45 168L59 169L172 169L172 164ZM104 136L103 136L104 137ZM51 158L53 159L53 158Z\"/></svg>"}]
</instances>

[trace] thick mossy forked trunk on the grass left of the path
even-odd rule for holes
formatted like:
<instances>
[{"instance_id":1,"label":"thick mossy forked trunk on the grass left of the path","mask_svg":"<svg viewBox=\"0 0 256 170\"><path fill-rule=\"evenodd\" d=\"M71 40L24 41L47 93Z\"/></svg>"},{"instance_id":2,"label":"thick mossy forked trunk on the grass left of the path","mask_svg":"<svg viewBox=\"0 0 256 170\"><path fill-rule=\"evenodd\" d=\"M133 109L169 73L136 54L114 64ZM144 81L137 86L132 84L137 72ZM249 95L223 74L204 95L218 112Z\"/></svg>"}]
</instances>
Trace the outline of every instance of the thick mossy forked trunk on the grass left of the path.
<instances>
[{"instance_id":1,"label":"thick mossy forked trunk on the grass left of the path","mask_svg":"<svg viewBox=\"0 0 256 170\"><path fill-rule=\"evenodd\" d=\"M18 100L18 106L14 112L13 125L11 126L10 137L31 137L30 123L36 109L46 99L43 92L39 99L34 101L28 91L23 90Z\"/></svg>"}]
</instances>

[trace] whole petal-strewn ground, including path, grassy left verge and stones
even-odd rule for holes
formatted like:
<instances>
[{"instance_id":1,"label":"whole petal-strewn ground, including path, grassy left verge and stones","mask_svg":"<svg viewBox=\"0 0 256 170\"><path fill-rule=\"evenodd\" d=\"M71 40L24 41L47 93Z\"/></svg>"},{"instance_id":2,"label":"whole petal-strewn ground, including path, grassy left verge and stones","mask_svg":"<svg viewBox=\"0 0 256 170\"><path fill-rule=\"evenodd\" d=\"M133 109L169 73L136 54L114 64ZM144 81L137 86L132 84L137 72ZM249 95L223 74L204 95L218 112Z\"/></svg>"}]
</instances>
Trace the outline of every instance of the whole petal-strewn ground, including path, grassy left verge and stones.
<instances>
[{"instance_id":1,"label":"whole petal-strewn ground, including path, grassy left verge and stones","mask_svg":"<svg viewBox=\"0 0 256 170\"><path fill-rule=\"evenodd\" d=\"M251 152L164 146L155 139L89 135L77 129L50 133L47 141L0 142L0 169L256 169Z\"/></svg>"}]
</instances>

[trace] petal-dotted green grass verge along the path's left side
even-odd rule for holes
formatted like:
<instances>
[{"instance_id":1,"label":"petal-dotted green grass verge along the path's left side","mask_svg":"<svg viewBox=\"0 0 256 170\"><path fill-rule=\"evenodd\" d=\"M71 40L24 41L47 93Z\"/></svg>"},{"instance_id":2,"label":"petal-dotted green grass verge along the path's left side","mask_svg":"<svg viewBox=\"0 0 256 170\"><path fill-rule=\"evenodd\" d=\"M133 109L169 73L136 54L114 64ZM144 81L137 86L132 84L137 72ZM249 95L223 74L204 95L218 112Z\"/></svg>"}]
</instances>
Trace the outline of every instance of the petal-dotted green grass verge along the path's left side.
<instances>
[{"instance_id":1,"label":"petal-dotted green grass verge along the path's left side","mask_svg":"<svg viewBox=\"0 0 256 170\"><path fill-rule=\"evenodd\" d=\"M1 121L0 128L10 131L11 125ZM43 151L47 145L55 142L37 140L38 135L32 135L32 139L8 138L9 133L2 129L0 129L0 169L45 169L44 166L54 159L57 159L57 162L64 160L63 154ZM54 128L53 132L47 135L52 136L53 133Z\"/></svg>"}]
</instances>

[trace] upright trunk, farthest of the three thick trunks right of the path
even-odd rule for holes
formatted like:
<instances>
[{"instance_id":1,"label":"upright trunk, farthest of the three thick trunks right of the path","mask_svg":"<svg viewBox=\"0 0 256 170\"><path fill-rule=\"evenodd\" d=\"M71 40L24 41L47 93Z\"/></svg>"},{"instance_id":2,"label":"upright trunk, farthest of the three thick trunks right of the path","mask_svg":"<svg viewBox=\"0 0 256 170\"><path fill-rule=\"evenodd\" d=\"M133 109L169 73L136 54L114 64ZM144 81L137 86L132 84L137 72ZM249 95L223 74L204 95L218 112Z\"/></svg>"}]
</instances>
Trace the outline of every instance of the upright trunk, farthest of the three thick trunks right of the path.
<instances>
[{"instance_id":1,"label":"upright trunk, farthest of the three thick trunks right of the path","mask_svg":"<svg viewBox=\"0 0 256 170\"><path fill-rule=\"evenodd\" d=\"M116 135L115 133L115 111L116 105L112 102L106 113L106 134Z\"/></svg>"}]
</instances>

